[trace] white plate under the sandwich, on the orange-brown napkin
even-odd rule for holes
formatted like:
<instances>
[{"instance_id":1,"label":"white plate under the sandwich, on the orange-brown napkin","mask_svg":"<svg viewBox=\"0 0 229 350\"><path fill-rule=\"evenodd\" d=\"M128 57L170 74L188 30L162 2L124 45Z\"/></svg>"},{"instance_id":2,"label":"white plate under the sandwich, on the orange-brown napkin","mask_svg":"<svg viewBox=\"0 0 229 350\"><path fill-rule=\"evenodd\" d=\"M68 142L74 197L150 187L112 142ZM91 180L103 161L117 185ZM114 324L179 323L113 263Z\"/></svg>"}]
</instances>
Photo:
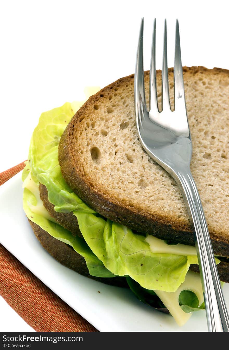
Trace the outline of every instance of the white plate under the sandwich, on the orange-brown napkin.
<instances>
[{"instance_id":1,"label":"white plate under the sandwich, on the orange-brown napkin","mask_svg":"<svg viewBox=\"0 0 229 350\"><path fill-rule=\"evenodd\" d=\"M105 285L62 266L36 239L22 208L21 172L0 188L0 243L99 331L207 331L205 311L178 327L170 315L141 303L124 288ZM98 293L100 292L100 293ZM229 284L223 287L229 309Z\"/></svg>"}]
</instances>

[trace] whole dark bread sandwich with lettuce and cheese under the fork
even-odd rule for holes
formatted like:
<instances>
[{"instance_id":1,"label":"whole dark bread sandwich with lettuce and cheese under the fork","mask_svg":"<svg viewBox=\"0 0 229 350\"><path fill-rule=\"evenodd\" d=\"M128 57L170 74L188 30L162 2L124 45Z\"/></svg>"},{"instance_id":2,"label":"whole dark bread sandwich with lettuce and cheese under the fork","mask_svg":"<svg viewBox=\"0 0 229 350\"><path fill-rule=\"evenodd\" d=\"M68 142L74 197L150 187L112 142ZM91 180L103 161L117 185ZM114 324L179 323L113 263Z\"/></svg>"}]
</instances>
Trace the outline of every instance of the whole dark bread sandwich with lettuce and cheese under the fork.
<instances>
[{"instance_id":1,"label":"whole dark bread sandwich with lettuce and cheese under the fork","mask_svg":"<svg viewBox=\"0 0 229 350\"><path fill-rule=\"evenodd\" d=\"M184 67L191 170L220 280L229 282L229 71ZM173 104L173 70L169 70ZM149 72L145 72L147 103ZM157 72L160 96L160 72ZM130 288L179 325L204 308L183 197L143 150L134 75L42 113L22 174L23 207L43 247L61 264ZM160 100L159 100L160 105Z\"/></svg>"}]
</instances>

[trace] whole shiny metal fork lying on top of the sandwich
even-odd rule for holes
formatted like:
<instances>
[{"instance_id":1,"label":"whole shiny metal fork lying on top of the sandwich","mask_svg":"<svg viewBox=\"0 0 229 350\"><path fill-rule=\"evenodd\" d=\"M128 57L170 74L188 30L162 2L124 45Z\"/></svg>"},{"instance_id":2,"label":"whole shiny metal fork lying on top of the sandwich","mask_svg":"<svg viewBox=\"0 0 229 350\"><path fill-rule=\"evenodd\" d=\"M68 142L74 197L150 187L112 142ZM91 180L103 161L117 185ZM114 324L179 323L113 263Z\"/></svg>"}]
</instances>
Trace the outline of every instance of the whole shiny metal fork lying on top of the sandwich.
<instances>
[{"instance_id":1,"label":"whole shiny metal fork lying on top of the sandwich","mask_svg":"<svg viewBox=\"0 0 229 350\"><path fill-rule=\"evenodd\" d=\"M176 180L183 193L193 226L195 247L204 292L208 331L229 331L229 317L222 294L207 223L198 190L190 170L192 142L185 105L178 20L176 20L174 61L175 111L173 112L171 111L169 100L166 20L164 23L162 63L162 112L158 111L156 90L155 33L156 21L154 20L148 111L143 71L142 18L134 77L135 114L138 136L145 151L153 160L167 170Z\"/></svg>"}]
</instances>

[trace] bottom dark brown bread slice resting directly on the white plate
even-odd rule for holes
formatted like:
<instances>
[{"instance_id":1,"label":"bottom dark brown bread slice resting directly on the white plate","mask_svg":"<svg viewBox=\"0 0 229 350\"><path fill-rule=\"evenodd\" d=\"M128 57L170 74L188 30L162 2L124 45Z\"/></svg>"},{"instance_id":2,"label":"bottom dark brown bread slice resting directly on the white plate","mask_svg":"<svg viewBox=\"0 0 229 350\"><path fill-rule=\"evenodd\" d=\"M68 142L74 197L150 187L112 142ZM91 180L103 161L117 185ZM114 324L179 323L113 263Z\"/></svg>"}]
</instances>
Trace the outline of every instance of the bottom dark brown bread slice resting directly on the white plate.
<instances>
[{"instance_id":1,"label":"bottom dark brown bread slice resting directly on the white plate","mask_svg":"<svg viewBox=\"0 0 229 350\"><path fill-rule=\"evenodd\" d=\"M44 231L42 228L40 228L40 226L31 220L29 220L29 223L35 233L35 236L40 241L45 250L49 252L49 254L52 255L54 259L59 261L60 264L96 281L117 287L128 287L125 277L99 278L91 276L89 274L86 261L71 246L52 237L48 232Z\"/></svg>"}]
</instances>

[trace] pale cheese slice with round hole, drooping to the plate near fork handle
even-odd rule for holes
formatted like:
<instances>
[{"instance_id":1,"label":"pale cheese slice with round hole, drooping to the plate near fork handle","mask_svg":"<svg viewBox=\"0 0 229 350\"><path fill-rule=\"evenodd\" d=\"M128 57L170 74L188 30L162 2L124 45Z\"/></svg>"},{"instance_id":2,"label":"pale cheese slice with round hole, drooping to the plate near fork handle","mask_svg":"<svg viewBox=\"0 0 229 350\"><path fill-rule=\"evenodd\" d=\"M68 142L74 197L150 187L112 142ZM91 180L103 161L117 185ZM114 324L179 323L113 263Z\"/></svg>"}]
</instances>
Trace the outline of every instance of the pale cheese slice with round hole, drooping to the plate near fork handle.
<instances>
[{"instance_id":1,"label":"pale cheese slice with round hole, drooping to the plate near fork handle","mask_svg":"<svg viewBox=\"0 0 229 350\"><path fill-rule=\"evenodd\" d=\"M176 292L168 293L162 290L154 290L179 326L183 326L192 315L192 312L186 314L179 305L179 295L182 290L191 290L195 293L199 300L199 306L204 302L200 274L192 271L187 272L185 281Z\"/></svg>"}]
</instances>

